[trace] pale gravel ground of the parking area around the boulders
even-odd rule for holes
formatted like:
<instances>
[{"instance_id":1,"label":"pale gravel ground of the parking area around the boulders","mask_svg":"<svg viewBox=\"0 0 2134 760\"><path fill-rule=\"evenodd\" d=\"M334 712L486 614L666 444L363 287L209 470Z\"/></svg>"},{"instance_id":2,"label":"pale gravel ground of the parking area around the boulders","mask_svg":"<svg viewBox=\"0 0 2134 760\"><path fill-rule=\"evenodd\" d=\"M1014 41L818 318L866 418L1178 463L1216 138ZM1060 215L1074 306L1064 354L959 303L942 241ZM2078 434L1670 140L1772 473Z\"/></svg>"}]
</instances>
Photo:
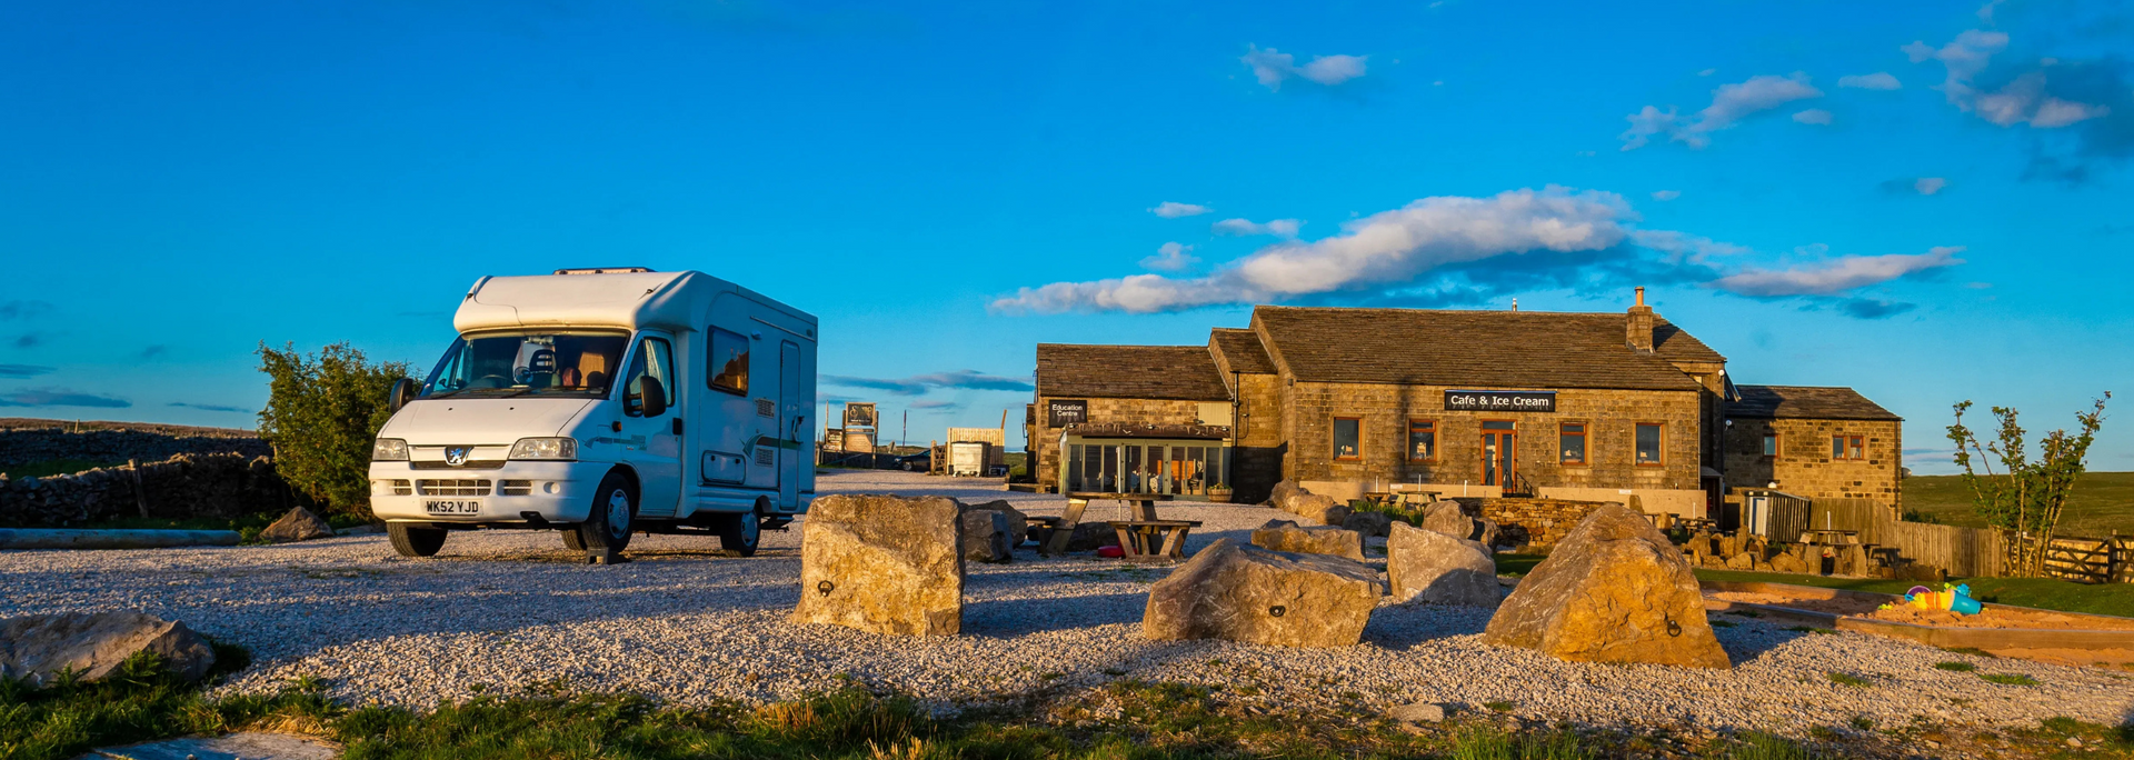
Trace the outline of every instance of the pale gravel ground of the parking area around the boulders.
<instances>
[{"instance_id":1,"label":"pale gravel ground of the parking area around the boulders","mask_svg":"<svg viewBox=\"0 0 2134 760\"><path fill-rule=\"evenodd\" d=\"M999 480L903 472L819 476L824 493L1005 497L1058 514L1058 497L1003 493ZM1088 519L1114 519L1093 504ZM1206 525L1189 551L1246 538L1276 512L1255 506L1163 506ZM1556 662L1479 640L1490 611L1381 606L1359 647L1274 649L1140 638L1148 585L1163 568L1110 559L969 566L962 636L886 638L792 626L800 532L766 534L751 557L717 540L638 536L634 561L585 566L548 532L455 534L444 555L401 559L384 536L288 547L0 553L0 617L134 608L254 651L226 692L318 677L350 702L429 707L527 687L627 690L674 702L781 700L856 679L941 709L1071 696L1118 677L1227 685L1291 709L1368 715L1430 700L1600 726L1701 726L1803 732L1846 726L2021 726L2070 715L2134 719L2134 679L2100 668L1953 655L1861 634L1805 634L1754 619L1720 628L1729 672ZM1383 564L1383 559L1381 559ZM1936 670L2027 675L1995 685ZM1840 685L1846 672L1872 685ZM1496 704L1504 709L1504 704Z\"/></svg>"}]
</instances>

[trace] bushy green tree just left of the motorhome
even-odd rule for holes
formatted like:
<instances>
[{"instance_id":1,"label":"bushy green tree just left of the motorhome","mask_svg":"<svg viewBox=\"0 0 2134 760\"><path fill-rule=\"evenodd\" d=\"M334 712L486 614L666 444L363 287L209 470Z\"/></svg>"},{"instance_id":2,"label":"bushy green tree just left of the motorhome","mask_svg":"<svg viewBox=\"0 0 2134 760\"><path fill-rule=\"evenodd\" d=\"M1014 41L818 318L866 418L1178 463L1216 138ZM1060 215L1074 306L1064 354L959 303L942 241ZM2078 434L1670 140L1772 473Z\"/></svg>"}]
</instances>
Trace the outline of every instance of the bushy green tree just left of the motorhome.
<instances>
[{"instance_id":1,"label":"bushy green tree just left of the motorhome","mask_svg":"<svg viewBox=\"0 0 2134 760\"><path fill-rule=\"evenodd\" d=\"M369 363L346 342L301 354L260 342L260 371L269 378L260 438L273 446L275 472L329 512L369 517L371 440L393 412L386 395L408 365Z\"/></svg>"}]
</instances>

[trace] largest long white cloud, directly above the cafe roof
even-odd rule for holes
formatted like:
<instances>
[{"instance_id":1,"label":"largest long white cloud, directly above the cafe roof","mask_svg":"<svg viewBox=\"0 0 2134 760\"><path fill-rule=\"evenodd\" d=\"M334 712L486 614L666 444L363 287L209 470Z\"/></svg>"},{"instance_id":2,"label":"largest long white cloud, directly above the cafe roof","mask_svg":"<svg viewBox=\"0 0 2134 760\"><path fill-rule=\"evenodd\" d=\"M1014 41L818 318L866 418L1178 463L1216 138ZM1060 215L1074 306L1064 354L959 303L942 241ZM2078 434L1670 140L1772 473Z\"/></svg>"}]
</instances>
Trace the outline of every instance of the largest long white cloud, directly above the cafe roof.
<instances>
[{"instance_id":1,"label":"largest long white cloud, directly above the cafe roof","mask_svg":"<svg viewBox=\"0 0 2134 760\"><path fill-rule=\"evenodd\" d=\"M1054 282L992 301L997 312L1176 312L1340 290L1411 286L1440 267L1528 252L1598 252L1635 218L1613 192L1509 190L1487 199L1430 196L1342 224L1340 235L1285 241L1206 278L1131 275Z\"/></svg>"}]
</instances>

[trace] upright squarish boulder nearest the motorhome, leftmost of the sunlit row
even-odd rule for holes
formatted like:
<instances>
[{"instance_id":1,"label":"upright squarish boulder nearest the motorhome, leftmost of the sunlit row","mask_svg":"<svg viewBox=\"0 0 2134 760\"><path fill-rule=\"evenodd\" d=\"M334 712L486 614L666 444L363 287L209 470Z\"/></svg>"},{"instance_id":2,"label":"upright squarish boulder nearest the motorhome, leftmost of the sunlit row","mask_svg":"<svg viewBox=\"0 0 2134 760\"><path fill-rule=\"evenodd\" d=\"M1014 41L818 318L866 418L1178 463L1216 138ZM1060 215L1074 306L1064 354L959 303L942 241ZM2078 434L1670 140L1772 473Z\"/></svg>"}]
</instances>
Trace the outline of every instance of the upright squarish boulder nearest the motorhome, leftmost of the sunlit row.
<instances>
[{"instance_id":1,"label":"upright squarish boulder nearest the motorhome, leftmost of the sunlit row","mask_svg":"<svg viewBox=\"0 0 2134 760\"><path fill-rule=\"evenodd\" d=\"M800 534L796 623L877 634L962 630L962 506L956 500L826 495Z\"/></svg>"}]
</instances>

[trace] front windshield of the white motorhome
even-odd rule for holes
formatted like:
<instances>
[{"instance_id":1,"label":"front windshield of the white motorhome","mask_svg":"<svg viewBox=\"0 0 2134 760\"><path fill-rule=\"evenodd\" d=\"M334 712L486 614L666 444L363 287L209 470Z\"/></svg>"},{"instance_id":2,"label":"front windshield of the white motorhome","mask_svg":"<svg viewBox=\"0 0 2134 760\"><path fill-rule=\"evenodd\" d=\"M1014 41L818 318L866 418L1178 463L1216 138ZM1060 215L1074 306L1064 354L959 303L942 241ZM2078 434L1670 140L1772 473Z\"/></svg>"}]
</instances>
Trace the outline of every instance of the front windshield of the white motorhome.
<instances>
[{"instance_id":1,"label":"front windshield of the white motorhome","mask_svg":"<svg viewBox=\"0 0 2134 760\"><path fill-rule=\"evenodd\" d=\"M627 344L623 333L467 335L429 371L423 397L606 397Z\"/></svg>"}]
</instances>

